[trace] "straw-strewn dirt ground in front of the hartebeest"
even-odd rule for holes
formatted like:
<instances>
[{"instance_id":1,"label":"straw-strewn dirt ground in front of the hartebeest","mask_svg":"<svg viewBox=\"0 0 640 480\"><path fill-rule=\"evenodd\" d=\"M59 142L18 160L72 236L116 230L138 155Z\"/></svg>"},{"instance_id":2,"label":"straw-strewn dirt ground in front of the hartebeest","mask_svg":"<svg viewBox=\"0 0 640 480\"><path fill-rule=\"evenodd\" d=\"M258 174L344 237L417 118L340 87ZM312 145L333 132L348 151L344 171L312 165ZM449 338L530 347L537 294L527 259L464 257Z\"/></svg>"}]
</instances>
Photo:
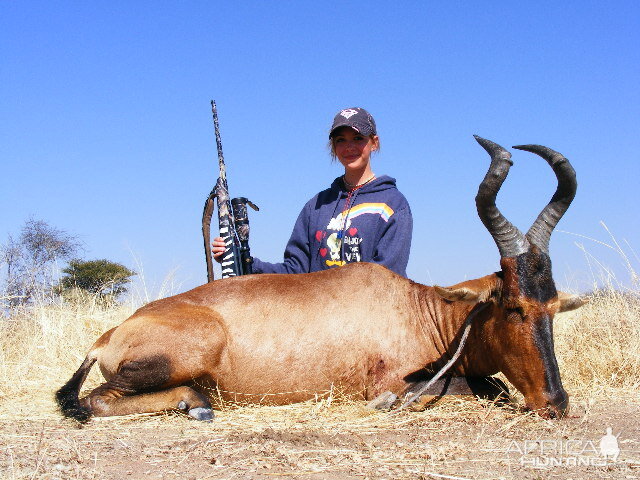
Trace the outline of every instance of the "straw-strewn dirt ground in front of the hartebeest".
<instances>
[{"instance_id":1,"label":"straw-strewn dirt ground in front of the hartebeest","mask_svg":"<svg viewBox=\"0 0 640 480\"><path fill-rule=\"evenodd\" d=\"M233 407L211 423L178 414L92 419L54 411L0 418L3 479L635 479L637 397L574 400L543 420L444 400L390 415L362 402ZM619 456L605 458L607 427ZM615 442L614 442L615 443ZM615 447L615 445L614 445Z\"/></svg>"}]
</instances>

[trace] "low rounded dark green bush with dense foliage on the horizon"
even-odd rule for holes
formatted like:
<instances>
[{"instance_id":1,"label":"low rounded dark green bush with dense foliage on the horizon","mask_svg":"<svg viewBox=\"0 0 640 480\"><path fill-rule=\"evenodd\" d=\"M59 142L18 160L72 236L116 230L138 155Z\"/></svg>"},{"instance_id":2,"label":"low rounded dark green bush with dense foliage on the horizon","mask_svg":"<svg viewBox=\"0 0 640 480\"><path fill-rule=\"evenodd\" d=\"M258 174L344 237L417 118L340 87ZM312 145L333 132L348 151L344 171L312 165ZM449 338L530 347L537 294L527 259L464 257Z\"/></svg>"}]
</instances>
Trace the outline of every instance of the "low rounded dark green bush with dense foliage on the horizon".
<instances>
[{"instance_id":1,"label":"low rounded dark green bush with dense foliage on the horizon","mask_svg":"<svg viewBox=\"0 0 640 480\"><path fill-rule=\"evenodd\" d=\"M63 290L79 288L101 297L115 298L127 291L125 285L131 282L136 272L124 265L109 260L71 260L62 269L60 280Z\"/></svg>"}]
</instances>

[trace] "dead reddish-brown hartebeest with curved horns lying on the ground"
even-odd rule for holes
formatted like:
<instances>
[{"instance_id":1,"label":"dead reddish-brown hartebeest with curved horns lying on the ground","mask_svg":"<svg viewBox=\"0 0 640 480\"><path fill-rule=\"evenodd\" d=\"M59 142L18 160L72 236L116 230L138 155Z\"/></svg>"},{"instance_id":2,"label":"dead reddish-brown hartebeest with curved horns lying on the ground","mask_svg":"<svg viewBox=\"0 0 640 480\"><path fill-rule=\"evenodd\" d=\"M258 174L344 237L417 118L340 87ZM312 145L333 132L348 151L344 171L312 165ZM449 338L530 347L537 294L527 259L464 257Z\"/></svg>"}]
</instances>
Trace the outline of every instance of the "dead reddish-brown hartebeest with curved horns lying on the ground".
<instances>
[{"instance_id":1,"label":"dead reddish-brown hartebeest with curved horns lying on the ground","mask_svg":"<svg viewBox=\"0 0 640 480\"><path fill-rule=\"evenodd\" d=\"M546 147L514 147L542 156L558 179L553 198L523 235L495 205L511 155L476 139L491 155L476 204L500 251L501 271L448 288L420 285L367 263L208 283L152 302L103 334L57 392L63 414L84 421L182 410L209 420L205 388L212 386L223 397L267 397L280 404L312 398L332 385L365 399L406 392L450 358L461 325L486 304L454 374L503 372L530 409L564 415L569 401L552 323L557 312L582 302L556 291L548 246L575 195L575 172ZM107 381L80 400L96 361Z\"/></svg>"}]
</instances>

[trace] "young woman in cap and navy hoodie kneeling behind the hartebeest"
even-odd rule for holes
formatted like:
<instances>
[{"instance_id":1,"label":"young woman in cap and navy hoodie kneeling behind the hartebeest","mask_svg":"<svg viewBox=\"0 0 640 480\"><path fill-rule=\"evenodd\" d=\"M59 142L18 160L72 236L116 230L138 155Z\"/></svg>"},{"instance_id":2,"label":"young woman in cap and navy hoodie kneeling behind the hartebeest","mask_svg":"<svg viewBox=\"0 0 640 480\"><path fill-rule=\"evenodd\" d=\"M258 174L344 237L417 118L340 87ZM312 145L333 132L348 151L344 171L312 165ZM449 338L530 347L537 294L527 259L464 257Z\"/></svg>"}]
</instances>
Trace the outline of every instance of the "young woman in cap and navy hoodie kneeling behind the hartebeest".
<instances>
[{"instance_id":1,"label":"young woman in cap and navy hoodie kneeling behind the hartebeest","mask_svg":"<svg viewBox=\"0 0 640 480\"><path fill-rule=\"evenodd\" d=\"M413 220L394 178L376 176L371 154L380 148L373 117L363 108L338 112L329 132L331 155L344 175L300 212L284 262L253 259L254 273L308 273L352 262L379 263L406 277ZM221 238L213 241L217 261Z\"/></svg>"}]
</instances>

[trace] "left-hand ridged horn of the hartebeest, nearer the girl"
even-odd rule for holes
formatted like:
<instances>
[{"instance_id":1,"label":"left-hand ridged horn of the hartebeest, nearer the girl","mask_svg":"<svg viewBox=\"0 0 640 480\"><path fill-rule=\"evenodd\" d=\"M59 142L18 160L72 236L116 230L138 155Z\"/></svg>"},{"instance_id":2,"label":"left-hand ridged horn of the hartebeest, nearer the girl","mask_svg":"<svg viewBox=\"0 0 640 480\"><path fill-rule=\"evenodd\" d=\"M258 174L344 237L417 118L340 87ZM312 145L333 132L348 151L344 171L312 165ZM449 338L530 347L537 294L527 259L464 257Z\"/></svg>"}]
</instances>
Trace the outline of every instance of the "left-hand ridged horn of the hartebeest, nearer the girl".
<instances>
[{"instance_id":1,"label":"left-hand ridged horn of the hartebeest, nearer the girl","mask_svg":"<svg viewBox=\"0 0 640 480\"><path fill-rule=\"evenodd\" d=\"M491 156L489 170L478 187L476 208L480 220L496 242L501 257L515 257L527 251L529 243L525 236L504 218L496 207L496 196L513 165L511 154L500 145L474 135L477 142Z\"/></svg>"}]
</instances>

